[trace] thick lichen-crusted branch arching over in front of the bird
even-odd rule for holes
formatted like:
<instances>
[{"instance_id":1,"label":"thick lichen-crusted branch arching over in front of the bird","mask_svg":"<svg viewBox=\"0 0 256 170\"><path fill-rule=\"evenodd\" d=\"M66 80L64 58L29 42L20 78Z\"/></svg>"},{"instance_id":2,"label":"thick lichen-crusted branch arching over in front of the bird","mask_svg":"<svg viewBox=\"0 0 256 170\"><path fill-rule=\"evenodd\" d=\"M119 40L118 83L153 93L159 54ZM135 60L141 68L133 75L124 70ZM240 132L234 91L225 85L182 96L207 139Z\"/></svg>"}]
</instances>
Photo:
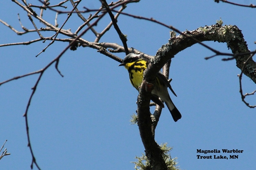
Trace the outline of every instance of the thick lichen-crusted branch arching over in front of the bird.
<instances>
[{"instance_id":1,"label":"thick lichen-crusted branch arching over in front of the bird","mask_svg":"<svg viewBox=\"0 0 256 170\"><path fill-rule=\"evenodd\" d=\"M184 35L185 34L185 35ZM195 41L196 39L196 41ZM151 166L155 169L166 169L166 165L161 155L161 149L157 145L152 132L152 120L149 112L149 102L154 80L158 71L164 64L174 57L178 52L198 43L198 41L218 41L226 42L232 50L236 59L237 66L242 69L245 66L244 74L256 82L255 68L256 63L250 56L246 42L243 39L242 32L236 26L219 24L200 27L194 31L185 31L183 34L169 39L169 42L163 45L156 53L156 56L150 60L148 68L144 72L143 81L138 96L138 126L145 147L146 156ZM239 55L243 53L243 55ZM224 55L216 51L216 55ZM230 55L230 54L229 54ZM247 63L244 65L244 62ZM153 126L156 126L153 124Z\"/></svg>"}]
</instances>

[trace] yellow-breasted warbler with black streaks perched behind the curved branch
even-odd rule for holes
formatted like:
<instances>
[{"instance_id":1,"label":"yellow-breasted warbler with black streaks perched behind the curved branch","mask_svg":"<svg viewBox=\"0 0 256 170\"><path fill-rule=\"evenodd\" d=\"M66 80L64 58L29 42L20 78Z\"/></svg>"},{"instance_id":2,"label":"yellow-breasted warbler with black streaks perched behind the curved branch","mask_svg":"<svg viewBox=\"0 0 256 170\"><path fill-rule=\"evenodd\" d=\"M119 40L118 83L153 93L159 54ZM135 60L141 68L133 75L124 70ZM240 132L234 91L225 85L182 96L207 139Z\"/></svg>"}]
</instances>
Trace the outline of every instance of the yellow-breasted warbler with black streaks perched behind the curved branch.
<instances>
[{"instance_id":1,"label":"yellow-breasted warbler with black streaks perched behind the curved branch","mask_svg":"<svg viewBox=\"0 0 256 170\"><path fill-rule=\"evenodd\" d=\"M138 91L143 80L143 73L148 67L148 62L149 60L140 54L129 53L127 56L125 56L122 63L118 65L124 66L125 69L128 70L130 82L132 86L135 87L135 89ZM159 71L156 76L155 87L151 91L151 100L158 104L160 107L164 108L164 104L159 100L159 98L161 98L171 112L172 118L175 122L177 122L179 119L181 119L181 113L172 102L168 93L168 87L172 93L177 96L174 90L172 90L171 84L166 79L164 74Z\"/></svg>"}]
</instances>

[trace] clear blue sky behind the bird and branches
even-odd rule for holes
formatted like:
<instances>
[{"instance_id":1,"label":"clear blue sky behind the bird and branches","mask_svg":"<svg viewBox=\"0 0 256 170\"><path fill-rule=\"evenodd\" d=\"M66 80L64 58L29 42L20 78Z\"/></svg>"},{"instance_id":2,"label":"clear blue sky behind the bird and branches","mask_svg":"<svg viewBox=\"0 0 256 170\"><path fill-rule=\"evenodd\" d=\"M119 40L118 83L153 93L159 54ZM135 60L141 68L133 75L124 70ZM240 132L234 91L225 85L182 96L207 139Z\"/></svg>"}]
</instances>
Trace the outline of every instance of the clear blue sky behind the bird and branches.
<instances>
[{"instance_id":1,"label":"clear blue sky behind the bird and branches","mask_svg":"<svg viewBox=\"0 0 256 170\"><path fill-rule=\"evenodd\" d=\"M256 4L253 0L234 2ZM56 3L57 0L51 1L51 4ZM82 1L79 7L84 6L98 8L99 2ZM0 19L17 30L22 31L17 13L25 27L33 28L24 10L12 1L2 2L0 11ZM129 4L125 12L153 17L180 31L215 24L221 17L224 24L237 25L248 48L255 50L255 9L214 3L213 0L148 0ZM54 23L55 13L44 14L46 20ZM65 16L59 16L59 25ZM64 29L75 31L82 24L75 15L72 17L74 20L70 20ZM110 21L108 17L105 19L95 28L97 31L100 32ZM169 39L170 30L152 22L120 16L118 25L127 34L128 47L149 55L155 55ZM0 24L0 29L0 44L38 38L34 33L18 36L3 24ZM83 38L95 39L91 34ZM113 28L101 42L121 44ZM1 47L0 81L43 68L68 45L55 42L36 58L48 43ZM221 52L231 52L226 44L206 44ZM125 56L124 53L116 55ZM171 156L178 157L178 165L183 170L256 169L256 115L255 109L246 107L241 101L237 77L240 70L233 60L223 62L222 56L204 59L211 55L213 53L208 49L193 45L172 59L170 77L178 97L171 98L182 119L174 122L169 111L163 109L155 140L173 147ZM67 51L60 59L59 69L64 77L54 66L44 73L28 111L31 144L41 169L134 168L130 162L145 150L138 126L129 122L137 109L138 92L129 83L127 70L118 64L94 49L80 47L77 51ZM11 153L0 160L1 169L30 169L31 155L22 115L37 77L33 75L0 86L0 145L7 139L5 148ZM245 93L250 93L255 90L255 84L243 76L243 88ZM256 104L254 96L248 97L248 101ZM196 149L244 151L234 160L201 160L196 157ZM224 153L216 155L229 157Z\"/></svg>"}]
</instances>

